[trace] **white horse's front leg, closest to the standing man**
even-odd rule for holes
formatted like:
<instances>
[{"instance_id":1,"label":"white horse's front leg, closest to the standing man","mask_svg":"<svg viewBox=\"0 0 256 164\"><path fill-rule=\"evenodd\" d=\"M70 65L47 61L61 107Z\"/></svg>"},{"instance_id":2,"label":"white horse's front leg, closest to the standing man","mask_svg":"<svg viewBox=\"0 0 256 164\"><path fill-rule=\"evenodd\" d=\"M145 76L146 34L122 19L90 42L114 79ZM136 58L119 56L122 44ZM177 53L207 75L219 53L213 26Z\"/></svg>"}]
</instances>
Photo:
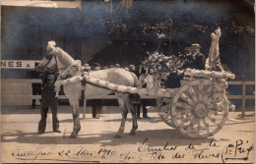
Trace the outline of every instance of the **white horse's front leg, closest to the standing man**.
<instances>
[{"instance_id":1,"label":"white horse's front leg, closest to the standing man","mask_svg":"<svg viewBox=\"0 0 256 164\"><path fill-rule=\"evenodd\" d=\"M70 100L71 101L71 100ZM81 130L80 120L79 120L79 100L77 99L72 103L72 115L74 121L73 132L71 133L71 138L78 137L78 133Z\"/></svg>"}]
</instances>

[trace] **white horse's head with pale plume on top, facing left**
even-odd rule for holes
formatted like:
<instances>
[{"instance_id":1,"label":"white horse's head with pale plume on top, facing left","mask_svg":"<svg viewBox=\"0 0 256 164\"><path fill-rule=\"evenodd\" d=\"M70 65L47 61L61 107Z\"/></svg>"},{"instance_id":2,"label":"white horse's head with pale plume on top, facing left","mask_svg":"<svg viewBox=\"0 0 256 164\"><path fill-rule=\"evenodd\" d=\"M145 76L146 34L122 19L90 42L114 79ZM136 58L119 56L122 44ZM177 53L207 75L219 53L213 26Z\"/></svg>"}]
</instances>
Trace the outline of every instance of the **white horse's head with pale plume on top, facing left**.
<instances>
[{"instance_id":1,"label":"white horse's head with pale plume on top, facing left","mask_svg":"<svg viewBox=\"0 0 256 164\"><path fill-rule=\"evenodd\" d=\"M55 45L55 41L48 41L46 54L35 68L37 71L54 70L56 68L57 61L53 56L53 51L56 48Z\"/></svg>"}]
</instances>

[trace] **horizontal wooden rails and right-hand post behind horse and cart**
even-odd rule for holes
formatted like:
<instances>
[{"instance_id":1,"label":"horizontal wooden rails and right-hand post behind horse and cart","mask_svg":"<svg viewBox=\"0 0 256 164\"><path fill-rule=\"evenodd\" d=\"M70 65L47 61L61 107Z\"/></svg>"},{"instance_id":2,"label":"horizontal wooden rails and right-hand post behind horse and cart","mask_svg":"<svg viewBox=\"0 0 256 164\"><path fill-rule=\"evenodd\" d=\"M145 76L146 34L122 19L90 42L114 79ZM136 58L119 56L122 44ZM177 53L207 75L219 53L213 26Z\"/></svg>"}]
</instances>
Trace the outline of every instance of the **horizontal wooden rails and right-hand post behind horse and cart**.
<instances>
[{"instance_id":1,"label":"horizontal wooden rails and right-hand post behind horse and cart","mask_svg":"<svg viewBox=\"0 0 256 164\"><path fill-rule=\"evenodd\" d=\"M30 85L32 83L40 83L41 80L30 80L30 79L10 79L10 80L2 80L2 82L17 82L17 83L29 83ZM255 99L255 95L246 95L246 85L255 85L255 82L242 82L242 81L229 81L227 82L228 85L231 85L231 84L235 84L235 85L242 85L242 95L227 95L227 98L228 99L241 99L242 100L242 117L245 116L245 111L246 111L246 100L247 99ZM12 98L21 98L21 97L27 97L27 98L30 98L30 99L40 99L41 96L40 95L23 95L23 94L20 94L20 95L2 95L3 97L12 97ZM67 96L66 95L59 95L58 97L59 99L67 99ZM156 97L154 96L142 96L143 99L147 98L147 99L154 99ZM104 97L95 97L95 98L92 98L92 99L115 99L115 95L105 95Z\"/></svg>"}]
</instances>

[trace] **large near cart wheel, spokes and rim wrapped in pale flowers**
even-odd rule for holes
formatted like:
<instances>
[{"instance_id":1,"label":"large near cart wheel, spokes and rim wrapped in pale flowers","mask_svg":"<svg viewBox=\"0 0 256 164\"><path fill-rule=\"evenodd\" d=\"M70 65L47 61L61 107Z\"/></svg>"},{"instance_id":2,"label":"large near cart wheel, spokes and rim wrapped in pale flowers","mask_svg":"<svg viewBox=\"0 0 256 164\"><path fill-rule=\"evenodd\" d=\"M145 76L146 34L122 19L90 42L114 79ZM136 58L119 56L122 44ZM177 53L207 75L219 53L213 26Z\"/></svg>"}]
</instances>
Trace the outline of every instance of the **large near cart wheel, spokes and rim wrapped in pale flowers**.
<instances>
[{"instance_id":1,"label":"large near cart wheel, spokes and rim wrapped in pale flowers","mask_svg":"<svg viewBox=\"0 0 256 164\"><path fill-rule=\"evenodd\" d=\"M225 86L210 80L184 84L171 105L175 127L182 135L192 138L214 136L223 128L227 115Z\"/></svg>"}]
</instances>

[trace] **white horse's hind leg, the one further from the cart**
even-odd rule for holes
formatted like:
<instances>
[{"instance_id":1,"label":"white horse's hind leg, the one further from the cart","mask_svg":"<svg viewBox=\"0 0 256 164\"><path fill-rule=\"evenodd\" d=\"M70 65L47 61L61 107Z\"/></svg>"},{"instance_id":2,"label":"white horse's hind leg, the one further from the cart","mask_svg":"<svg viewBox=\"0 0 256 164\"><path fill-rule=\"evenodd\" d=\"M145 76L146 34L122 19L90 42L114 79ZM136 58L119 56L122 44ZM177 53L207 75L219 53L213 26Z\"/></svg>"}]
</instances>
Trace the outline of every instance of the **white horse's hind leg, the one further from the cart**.
<instances>
[{"instance_id":1,"label":"white horse's hind leg, the one further from the cart","mask_svg":"<svg viewBox=\"0 0 256 164\"><path fill-rule=\"evenodd\" d=\"M120 128L114 136L115 138L118 138L118 137L121 137L121 135L124 132L125 122L126 122L127 113L128 113L125 101L127 99L128 94L116 93L116 96L117 96L119 107L122 113L122 121L121 121Z\"/></svg>"}]
</instances>

